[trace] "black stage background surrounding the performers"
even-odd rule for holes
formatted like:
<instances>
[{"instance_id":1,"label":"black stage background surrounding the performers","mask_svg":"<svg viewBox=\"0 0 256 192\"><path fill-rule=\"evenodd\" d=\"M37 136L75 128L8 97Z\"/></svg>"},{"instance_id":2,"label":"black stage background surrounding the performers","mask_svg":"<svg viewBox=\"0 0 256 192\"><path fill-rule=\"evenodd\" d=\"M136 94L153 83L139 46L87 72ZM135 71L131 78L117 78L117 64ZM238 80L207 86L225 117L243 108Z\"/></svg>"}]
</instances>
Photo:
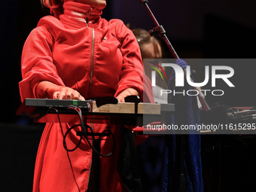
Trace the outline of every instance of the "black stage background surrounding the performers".
<instances>
[{"instance_id":1,"label":"black stage background surrounding the performers","mask_svg":"<svg viewBox=\"0 0 256 192\"><path fill-rule=\"evenodd\" d=\"M138 0L108 0L103 17L119 18L131 28L152 29L154 23ZM256 1L254 0L150 0L149 5L181 58L255 58ZM48 14L39 0L13 0L0 6L1 84L1 191L31 191L41 125L17 117L20 105L18 82L23 43L38 20ZM164 46L165 47L165 46ZM165 47L166 49L166 47ZM165 57L172 57L166 50ZM197 75L200 66L192 66ZM255 77L256 66L235 72L238 79ZM197 77L200 78L200 77ZM256 78L255 78L256 79ZM254 78L252 78L254 80ZM256 105L256 81L230 93L229 99L206 98L212 105ZM242 88L241 88L242 89ZM254 136L203 136L206 191L255 191ZM209 163L210 162L210 163ZM251 175L251 176L250 176ZM229 190L230 189L230 190Z\"/></svg>"}]
</instances>

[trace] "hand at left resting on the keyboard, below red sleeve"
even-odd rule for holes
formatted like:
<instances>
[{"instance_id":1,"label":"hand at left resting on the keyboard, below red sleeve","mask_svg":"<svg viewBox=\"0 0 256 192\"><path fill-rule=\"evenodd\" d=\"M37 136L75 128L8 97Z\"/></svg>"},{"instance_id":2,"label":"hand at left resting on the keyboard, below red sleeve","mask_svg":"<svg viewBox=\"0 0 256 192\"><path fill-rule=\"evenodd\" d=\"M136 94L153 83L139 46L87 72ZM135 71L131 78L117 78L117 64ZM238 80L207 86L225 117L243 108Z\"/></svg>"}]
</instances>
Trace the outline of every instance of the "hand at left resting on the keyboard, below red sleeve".
<instances>
[{"instance_id":1,"label":"hand at left resting on the keyboard, below red sleeve","mask_svg":"<svg viewBox=\"0 0 256 192\"><path fill-rule=\"evenodd\" d=\"M85 100L78 91L69 87L63 87L61 90L54 92L53 99Z\"/></svg>"}]
</instances>

